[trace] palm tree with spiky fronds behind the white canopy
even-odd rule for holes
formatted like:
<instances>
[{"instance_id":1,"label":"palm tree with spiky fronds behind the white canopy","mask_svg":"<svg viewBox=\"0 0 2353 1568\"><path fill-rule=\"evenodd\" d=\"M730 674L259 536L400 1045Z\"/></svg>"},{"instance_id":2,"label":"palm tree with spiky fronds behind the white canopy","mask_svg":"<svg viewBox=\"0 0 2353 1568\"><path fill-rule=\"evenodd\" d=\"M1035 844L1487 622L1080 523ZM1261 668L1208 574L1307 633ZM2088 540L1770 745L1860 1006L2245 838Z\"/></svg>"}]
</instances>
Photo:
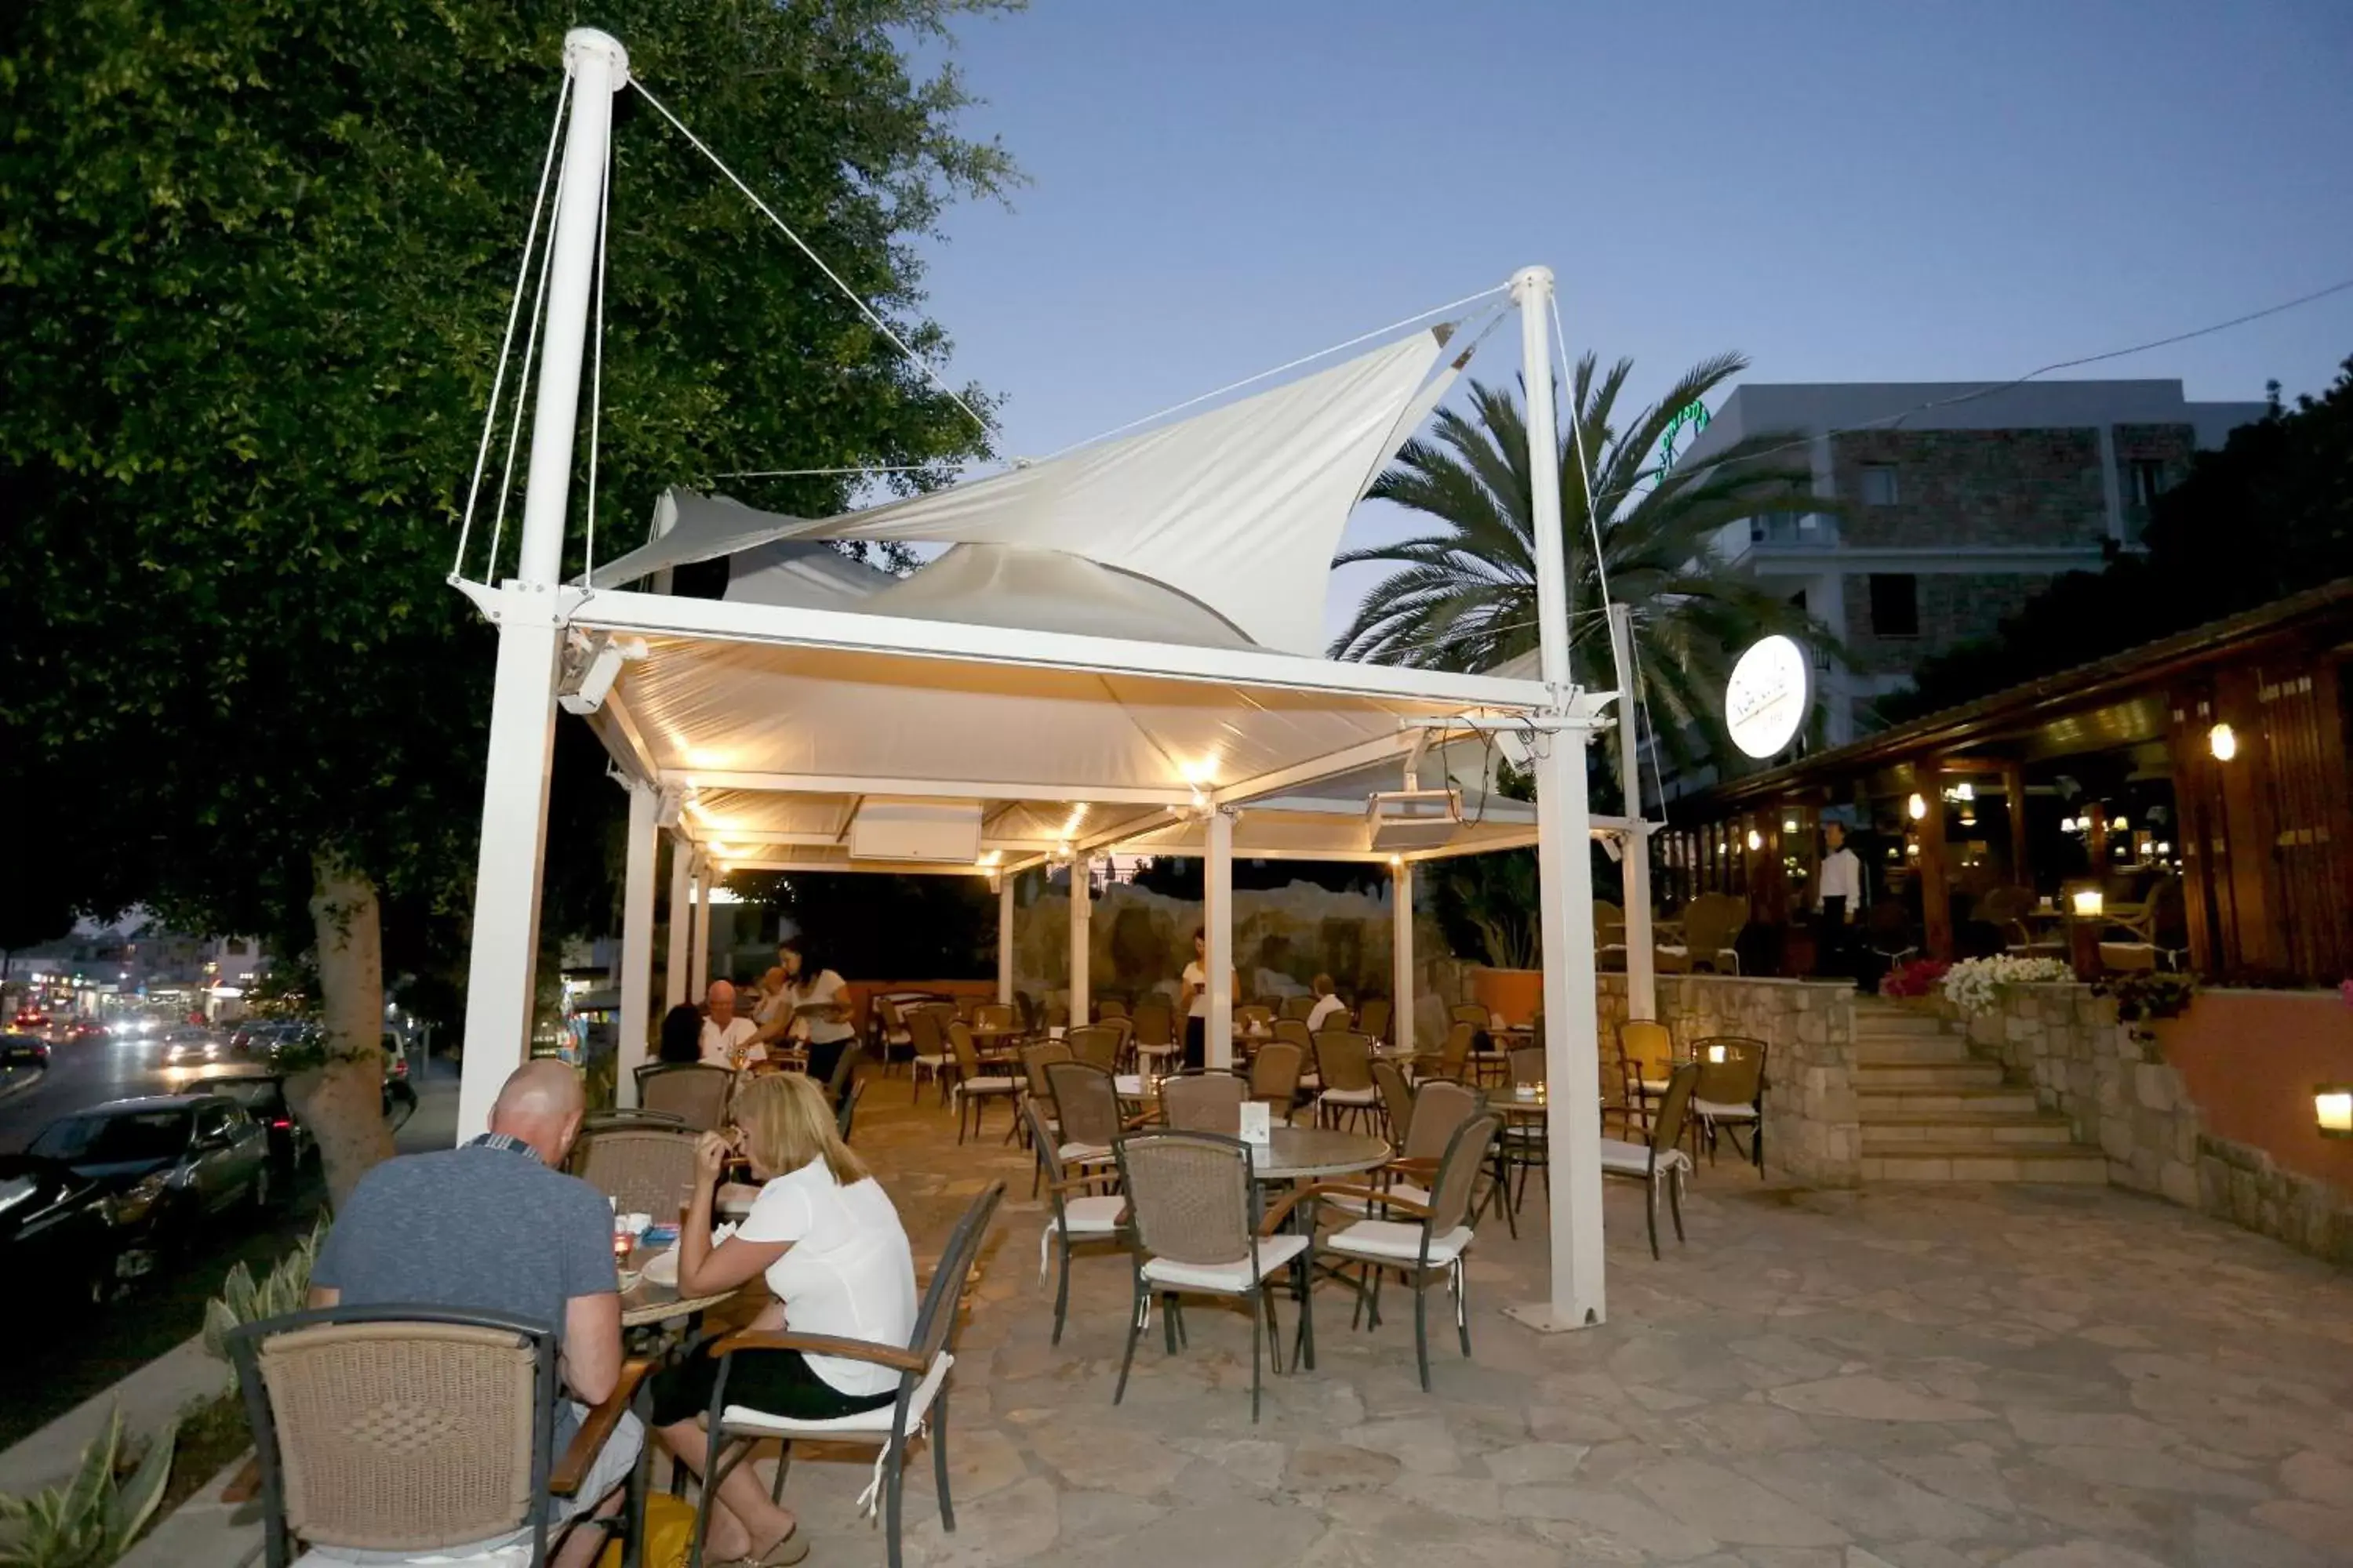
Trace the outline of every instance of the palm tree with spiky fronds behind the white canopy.
<instances>
[{"instance_id":1,"label":"palm tree with spiky fronds behind the white canopy","mask_svg":"<svg viewBox=\"0 0 2353 1568\"><path fill-rule=\"evenodd\" d=\"M1720 738L1732 658L1765 632L1788 632L1835 654L1821 623L1732 571L1715 550L1727 524L1777 510L1838 510L1809 494L1802 447L1751 435L1699 468L1654 461L1668 423L1722 381L1748 369L1741 355L1701 360L1666 397L1617 428L1633 371L1619 360L1595 383L1595 357L1577 362L1569 407L1600 510L1602 562L1593 559L1586 480L1569 433L1560 437L1560 529L1569 576L1572 668L1586 684L1617 684L1602 599L1633 607L1635 670L1659 743L1678 762L1694 731ZM1779 456L1781 461L1774 461ZM1529 522L1527 418L1506 390L1471 383L1468 411L1438 414L1428 440L1407 442L1367 491L1421 512L1435 531L1348 550L1339 564L1386 562L1355 621L1332 642L1334 658L1492 670L1537 646L1537 545ZM1729 755L1727 748L1711 748Z\"/></svg>"}]
</instances>

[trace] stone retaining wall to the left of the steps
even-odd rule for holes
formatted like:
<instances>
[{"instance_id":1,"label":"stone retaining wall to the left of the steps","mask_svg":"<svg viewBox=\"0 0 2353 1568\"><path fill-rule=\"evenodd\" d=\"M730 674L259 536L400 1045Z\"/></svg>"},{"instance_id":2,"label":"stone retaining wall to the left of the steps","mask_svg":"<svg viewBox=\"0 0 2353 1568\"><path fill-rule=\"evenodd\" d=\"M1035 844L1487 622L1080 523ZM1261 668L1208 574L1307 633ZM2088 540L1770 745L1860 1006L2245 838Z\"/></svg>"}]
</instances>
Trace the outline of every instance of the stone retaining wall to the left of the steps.
<instances>
[{"instance_id":1,"label":"stone retaining wall to the left of the steps","mask_svg":"<svg viewBox=\"0 0 2353 1568\"><path fill-rule=\"evenodd\" d=\"M1854 987L1741 976L1659 976L1659 1016L1678 1041L1762 1039L1765 1171L1809 1187L1854 1187L1864 1173L1854 1091ZM1602 1060L1626 1020L1626 976L1600 976Z\"/></svg>"}]
</instances>

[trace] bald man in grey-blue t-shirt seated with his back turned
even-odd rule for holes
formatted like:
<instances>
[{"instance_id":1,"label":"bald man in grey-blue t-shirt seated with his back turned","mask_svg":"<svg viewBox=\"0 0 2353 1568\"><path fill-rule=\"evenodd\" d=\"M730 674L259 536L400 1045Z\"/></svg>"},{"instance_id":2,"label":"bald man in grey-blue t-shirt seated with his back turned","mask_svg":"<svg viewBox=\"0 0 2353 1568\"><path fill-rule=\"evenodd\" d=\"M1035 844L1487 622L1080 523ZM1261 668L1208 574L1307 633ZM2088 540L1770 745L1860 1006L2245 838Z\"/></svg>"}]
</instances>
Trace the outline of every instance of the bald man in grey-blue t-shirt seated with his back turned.
<instances>
[{"instance_id":1,"label":"bald man in grey-blue t-shirt seated with his back turned","mask_svg":"<svg viewBox=\"0 0 2353 1568\"><path fill-rule=\"evenodd\" d=\"M558 1371L572 1399L555 1406L551 1462L562 1458L588 1406L621 1380L612 1206L560 1171L584 1112L579 1072L558 1060L525 1063L489 1107L487 1133L454 1150L388 1159L362 1175L311 1267L313 1307L414 1302L555 1326ZM551 1519L576 1519L600 1502L619 1507L642 1443L642 1425L624 1415L579 1493L551 1502ZM598 1530L574 1530L553 1561L586 1568L598 1547Z\"/></svg>"}]
</instances>

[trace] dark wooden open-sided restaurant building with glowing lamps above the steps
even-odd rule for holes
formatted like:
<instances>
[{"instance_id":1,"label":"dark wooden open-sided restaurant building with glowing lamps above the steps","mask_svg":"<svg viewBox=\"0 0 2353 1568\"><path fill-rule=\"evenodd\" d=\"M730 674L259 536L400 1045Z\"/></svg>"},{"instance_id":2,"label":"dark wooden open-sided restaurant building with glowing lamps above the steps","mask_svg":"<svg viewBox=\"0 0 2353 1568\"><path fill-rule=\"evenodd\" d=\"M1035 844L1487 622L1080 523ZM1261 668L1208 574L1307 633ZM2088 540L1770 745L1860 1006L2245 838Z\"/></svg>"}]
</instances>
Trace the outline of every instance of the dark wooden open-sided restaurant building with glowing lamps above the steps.
<instances>
[{"instance_id":1,"label":"dark wooden open-sided restaurant building with glowing lamps above the steps","mask_svg":"<svg viewBox=\"0 0 2353 1568\"><path fill-rule=\"evenodd\" d=\"M2353 973L2353 578L1668 804L1661 898L1748 900L1751 973L1814 973L1821 827L1857 952L2047 952L2217 983Z\"/></svg>"}]
</instances>

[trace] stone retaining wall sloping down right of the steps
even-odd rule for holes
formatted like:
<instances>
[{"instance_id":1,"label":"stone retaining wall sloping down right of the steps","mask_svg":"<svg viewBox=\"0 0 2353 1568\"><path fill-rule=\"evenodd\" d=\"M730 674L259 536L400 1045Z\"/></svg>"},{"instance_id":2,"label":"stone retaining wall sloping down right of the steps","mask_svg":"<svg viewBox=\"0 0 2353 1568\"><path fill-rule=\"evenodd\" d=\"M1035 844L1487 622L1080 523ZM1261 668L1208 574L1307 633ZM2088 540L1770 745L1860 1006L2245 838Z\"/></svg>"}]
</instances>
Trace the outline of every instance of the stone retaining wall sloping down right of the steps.
<instances>
[{"instance_id":1,"label":"stone retaining wall sloping down right of the steps","mask_svg":"<svg viewBox=\"0 0 2353 1568\"><path fill-rule=\"evenodd\" d=\"M2097 1143L2113 1185L2353 1262L2353 1194L2207 1133L2158 1041L2122 1027L2115 1004L2089 985L2005 987L1993 1011L1969 1018L1969 1044L2031 1081L2080 1143Z\"/></svg>"}]
</instances>

